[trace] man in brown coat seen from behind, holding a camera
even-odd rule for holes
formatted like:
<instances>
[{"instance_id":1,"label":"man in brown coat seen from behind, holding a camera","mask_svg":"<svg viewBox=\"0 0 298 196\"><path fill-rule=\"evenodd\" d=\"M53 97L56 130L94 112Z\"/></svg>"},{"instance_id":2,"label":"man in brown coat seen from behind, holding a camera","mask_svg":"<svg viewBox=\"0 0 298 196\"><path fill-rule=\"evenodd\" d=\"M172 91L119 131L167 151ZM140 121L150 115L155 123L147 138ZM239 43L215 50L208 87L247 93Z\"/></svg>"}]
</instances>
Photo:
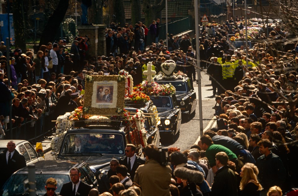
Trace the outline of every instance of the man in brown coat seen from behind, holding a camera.
<instances>
[{"instance_id":1,"label":"man in brown coat seen from behind, holding a camera","mask_svg":"<svg viewBox=\"0 0 298 196\"><path fill-rule=\"evenodd\" d=\"M141 165L136 170L134 182L142 187L141 196L151 195L152 191L156 195L170 195L169 184L171 183L172 170L169 166L160 165L160 153L158 148L149 144L145 147L145 165Z\"/></svg>"}]
</instances>

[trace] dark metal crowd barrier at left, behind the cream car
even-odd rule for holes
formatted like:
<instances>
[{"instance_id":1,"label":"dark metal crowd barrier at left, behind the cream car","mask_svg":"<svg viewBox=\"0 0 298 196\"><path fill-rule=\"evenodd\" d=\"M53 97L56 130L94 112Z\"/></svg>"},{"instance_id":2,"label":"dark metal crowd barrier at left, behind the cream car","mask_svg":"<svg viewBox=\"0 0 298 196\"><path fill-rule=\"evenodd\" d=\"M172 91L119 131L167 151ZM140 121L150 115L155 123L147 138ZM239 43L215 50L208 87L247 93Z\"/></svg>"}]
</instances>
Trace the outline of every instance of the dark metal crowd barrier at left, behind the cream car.
<instances>
[{"instance_id":1,"label":"dark metal crowd barrier at left, behind the cream car","mask_svg":"<svg viewBox=\"0 0 298 196\"><path fill-rule=\"evenodd\" d=\"M21 139L36 142L38 138L43 138L50 133L55 124L51 122L52 116L42 114L37 120L23 122L20 126L14 123L12 131L9 130L9 124L5 130L4 139Z\"/></svg>"}]
</instances>

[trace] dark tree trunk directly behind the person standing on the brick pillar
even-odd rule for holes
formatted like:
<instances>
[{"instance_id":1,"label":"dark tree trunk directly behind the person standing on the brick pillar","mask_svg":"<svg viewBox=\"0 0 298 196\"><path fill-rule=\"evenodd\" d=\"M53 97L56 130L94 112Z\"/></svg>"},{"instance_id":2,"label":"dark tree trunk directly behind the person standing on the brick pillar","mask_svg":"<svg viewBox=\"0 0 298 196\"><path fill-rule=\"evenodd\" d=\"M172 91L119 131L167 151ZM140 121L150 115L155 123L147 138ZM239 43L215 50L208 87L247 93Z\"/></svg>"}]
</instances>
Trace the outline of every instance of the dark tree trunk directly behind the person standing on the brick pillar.
<instances>
[{"instance_id":1,"label":"dark tree trunk directly behind the person standing on the brick pillar","mask_svg":"<svg viewBox=\"0 0 298 196\"><path fill-rule=\"evenodd\" d=\"M92 1L88 8L88 22L96 25L102 24L102 1Z\"/></svg>"}]
</instances>

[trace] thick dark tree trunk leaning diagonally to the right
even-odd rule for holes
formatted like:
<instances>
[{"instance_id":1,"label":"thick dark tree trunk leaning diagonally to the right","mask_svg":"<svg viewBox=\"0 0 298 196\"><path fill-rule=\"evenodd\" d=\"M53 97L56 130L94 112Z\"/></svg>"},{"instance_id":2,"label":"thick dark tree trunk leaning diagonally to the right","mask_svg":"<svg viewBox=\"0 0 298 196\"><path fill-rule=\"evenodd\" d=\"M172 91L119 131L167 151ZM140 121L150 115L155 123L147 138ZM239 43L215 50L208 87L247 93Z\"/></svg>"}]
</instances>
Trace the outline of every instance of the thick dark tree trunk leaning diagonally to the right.
<instances>
[{"instance_id":1,"label":"thick dark tree trunk leaning diagonally to the right","mask_svg":"<svg viewBox=\"0 0 298 196\"><path fill-rule=\"evenodd\" d=\"M48 42L52 42L56 36L56 32L60 28L60 24L64 19L65 13L69 6L69 0L59 0L58 6L49 17L46 26L43 29L39 46L47 45Z\"/></svg>"}]
</instances>

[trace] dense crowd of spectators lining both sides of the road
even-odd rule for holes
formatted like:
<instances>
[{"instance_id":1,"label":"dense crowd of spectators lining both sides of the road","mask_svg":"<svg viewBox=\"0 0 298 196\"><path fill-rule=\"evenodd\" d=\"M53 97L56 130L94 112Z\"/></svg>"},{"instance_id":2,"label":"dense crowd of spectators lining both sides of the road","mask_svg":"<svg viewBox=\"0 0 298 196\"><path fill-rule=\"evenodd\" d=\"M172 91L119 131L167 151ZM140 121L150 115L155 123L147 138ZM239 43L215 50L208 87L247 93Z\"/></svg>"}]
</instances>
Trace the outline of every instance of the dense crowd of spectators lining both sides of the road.
<instances>
[{"instance_id":1,"label":"dense crowd of spectators lining both sides of the road","mask_svg":"<svg viewBox=\"0 0 298 196\"><path fill-rule=\"evenodd\" d=\"M196 37L170 34L167 47L158 41L159 22L152 21L149 29L142 22L123 28L111 24L106 29L106 56L88 57L87 36L76 37L69 50L65 40L42 45L36 55L17 48L8 66L11 81L7 59L1 56L2 125L7 123L11 100L15 127L45 116L55 120L83 105L87 75L117 75L125 69L137 85L146 79L142 72L148 62L159 72L163 62L173 60L175 71L196 81ZM272 196L298 186L296 50L281 52L274 44L263 43L247 51L244 46L232 48L225 37L230 27L235 34L242 28L232 21L212 23L198 38L201 69L208 67L216 100L217 128L207 130L189 150L170 148L170 166L160 164L155 146L145 147L145 162L128 145L126 158L112 159L111 169L102 176L101 195L128 189L133 193L127 195L151 195L155 190L173 196ZM281 28L276 26L271 35L285 37ZM0 127L2 138L6 134L4 138L18 139L20 134L9 135L7 126Z\"/></svg>"}]
</instances>

